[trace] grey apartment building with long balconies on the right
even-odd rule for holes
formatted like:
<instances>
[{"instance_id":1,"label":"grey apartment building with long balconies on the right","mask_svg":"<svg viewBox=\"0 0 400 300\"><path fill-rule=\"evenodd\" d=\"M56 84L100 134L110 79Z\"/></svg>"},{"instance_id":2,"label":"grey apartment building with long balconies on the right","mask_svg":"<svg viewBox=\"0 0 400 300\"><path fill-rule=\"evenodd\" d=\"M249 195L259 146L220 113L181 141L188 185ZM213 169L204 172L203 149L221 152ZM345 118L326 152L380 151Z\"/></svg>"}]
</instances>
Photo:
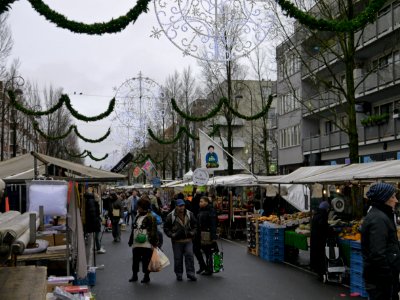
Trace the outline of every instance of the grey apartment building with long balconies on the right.
<instances>
[{"instance_id":1,"label":"grey apartment building with long balconies on the right","mask_svg":"<svg viewBox=\"0 0 400 300\"><path fill-rule=\"evenodd\" d=\"M276 49L281 173L349 163L348 103L340 92L346 91L345 66L303 29ZM388 1L355 41L360 162L400 159L400 1ZM332 49L340 53L337 45Z\"/></svg>"}]
</instances>

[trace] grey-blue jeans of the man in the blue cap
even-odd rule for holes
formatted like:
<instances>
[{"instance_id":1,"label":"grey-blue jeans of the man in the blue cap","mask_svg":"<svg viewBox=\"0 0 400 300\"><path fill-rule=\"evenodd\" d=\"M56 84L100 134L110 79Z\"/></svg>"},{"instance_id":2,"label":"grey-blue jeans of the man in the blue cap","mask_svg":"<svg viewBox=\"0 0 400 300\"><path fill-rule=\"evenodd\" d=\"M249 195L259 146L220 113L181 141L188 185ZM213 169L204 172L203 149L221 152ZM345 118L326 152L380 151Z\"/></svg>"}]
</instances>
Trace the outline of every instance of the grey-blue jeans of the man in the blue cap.
<instances>
[{"instance_id":1,"label":"grey-blue jeans of the man in the blue cap","mask_svg":"<svg viewBox=\"0 0 400 300\"><path fill-rule=\"evenodd\" d=\"M183 274L183 258L185 257L186 274L194 276L194 257L192 241L186 243L172 242L172 250L174 252L174 272L177 276Z\"/></svg>"}]
</instances>

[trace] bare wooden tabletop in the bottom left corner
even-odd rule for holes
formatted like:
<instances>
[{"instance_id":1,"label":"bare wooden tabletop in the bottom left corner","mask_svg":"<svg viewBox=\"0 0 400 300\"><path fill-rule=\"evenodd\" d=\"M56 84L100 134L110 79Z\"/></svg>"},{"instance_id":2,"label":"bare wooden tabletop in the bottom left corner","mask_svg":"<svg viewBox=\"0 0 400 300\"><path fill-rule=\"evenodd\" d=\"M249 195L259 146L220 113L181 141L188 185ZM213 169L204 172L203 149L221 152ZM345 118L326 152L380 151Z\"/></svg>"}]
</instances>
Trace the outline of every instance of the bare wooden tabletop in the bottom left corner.
<instances>
[{"instance_id":1,"label":"bare wooden tabletop in the bottom left corner","mask_svg":"<svg viewBox=\"0 0 400 300\"><path fill-rule=\"evenodd\" d=\"M47 292L46 267L0 268L2 300L44 300Z\"/></svg>"}]
</instances>

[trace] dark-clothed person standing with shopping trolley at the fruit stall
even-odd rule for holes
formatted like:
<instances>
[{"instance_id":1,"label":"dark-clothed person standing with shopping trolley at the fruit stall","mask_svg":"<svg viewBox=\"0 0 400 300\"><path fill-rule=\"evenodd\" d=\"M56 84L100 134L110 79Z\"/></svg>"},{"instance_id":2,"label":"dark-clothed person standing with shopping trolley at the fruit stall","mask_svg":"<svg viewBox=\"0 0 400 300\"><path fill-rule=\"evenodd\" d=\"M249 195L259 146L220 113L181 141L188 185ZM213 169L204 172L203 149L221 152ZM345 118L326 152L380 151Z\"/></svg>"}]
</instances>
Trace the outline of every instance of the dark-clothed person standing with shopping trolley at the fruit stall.
<instances>
[{"instance_id":1,"label":"dark-clothed person standing with shopping trolley at the fruit stall","mask_svg":"<svg viewBox=\"0 0 400 300\"><path fill-rule=\"evenodd\" d=\"M326 239L332 231L328 224L329 208L329 202L322 201L311 220L310 267L315 273L318 274L318 279L321 281L326 271Z\"/></svg>"}]
</instances>

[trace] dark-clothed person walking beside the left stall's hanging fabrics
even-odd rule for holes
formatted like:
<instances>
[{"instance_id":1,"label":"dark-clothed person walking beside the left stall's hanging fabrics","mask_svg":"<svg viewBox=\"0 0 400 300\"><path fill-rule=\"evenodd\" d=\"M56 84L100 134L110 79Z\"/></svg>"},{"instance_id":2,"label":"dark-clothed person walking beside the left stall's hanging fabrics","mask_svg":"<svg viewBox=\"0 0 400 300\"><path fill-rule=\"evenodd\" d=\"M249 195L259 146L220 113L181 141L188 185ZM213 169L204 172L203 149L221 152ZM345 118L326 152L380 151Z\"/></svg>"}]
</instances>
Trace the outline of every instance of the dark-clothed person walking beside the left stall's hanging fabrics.
<instances>
[{"instance_id":1,"label":"dark-clothed person walking beside the left stall's hanging fabrics","mask_svg":"<svg viewBox=\"0 0 400 300\"><path fill-rule=\"evenodd\" d=\"M97 196L97 197L96 197ZM101 215L98 195L85 193L85 229L86 233L93 233L94 243L98 254L106 253L100 243ZM97 198L97 199L96 199Z\"/></svg>"}]
</instances>

